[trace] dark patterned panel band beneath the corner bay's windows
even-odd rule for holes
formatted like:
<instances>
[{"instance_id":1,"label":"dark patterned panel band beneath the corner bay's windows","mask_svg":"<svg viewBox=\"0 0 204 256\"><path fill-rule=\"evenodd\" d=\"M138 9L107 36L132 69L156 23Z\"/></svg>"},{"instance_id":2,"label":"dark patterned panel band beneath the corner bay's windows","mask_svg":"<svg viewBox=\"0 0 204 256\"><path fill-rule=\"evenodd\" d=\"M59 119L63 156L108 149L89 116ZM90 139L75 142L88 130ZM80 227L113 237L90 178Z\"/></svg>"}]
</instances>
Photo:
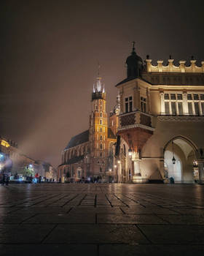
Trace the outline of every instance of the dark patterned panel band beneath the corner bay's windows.
<instances>
[{"instance_id":1,"label":"dark patterned panel band beneath the corner bay's windows","mask_svg":"<svg viewBox=\"0 0 204 256\"><path fill-rule=\"evenodd\" d=\"M152 116L138 110L128 113L122 113L119 115L118 130L130 129L134 127L141 127L153 130L154 128L152 128Z\"/></svg>"}]
</instances>

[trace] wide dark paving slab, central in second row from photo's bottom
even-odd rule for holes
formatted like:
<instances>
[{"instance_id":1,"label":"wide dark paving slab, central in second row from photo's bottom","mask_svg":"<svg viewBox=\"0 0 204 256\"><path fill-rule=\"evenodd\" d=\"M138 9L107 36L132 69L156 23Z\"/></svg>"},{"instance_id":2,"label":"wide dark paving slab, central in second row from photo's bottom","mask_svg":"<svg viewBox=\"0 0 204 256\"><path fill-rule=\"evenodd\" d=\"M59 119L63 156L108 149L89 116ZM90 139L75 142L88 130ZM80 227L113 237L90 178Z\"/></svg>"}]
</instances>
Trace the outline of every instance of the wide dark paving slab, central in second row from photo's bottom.
<instances>
[{"instance_id":1,"label":"wide dark paving slab, central in second row from photo's bottom","mask_svg":"<svg viewBox=\"0 0 204 256\"><path fill-rule=\"evenodd\" d=\"M58 225L44 243L149 244L135 225Z\"/></svg>"}]
</instances>

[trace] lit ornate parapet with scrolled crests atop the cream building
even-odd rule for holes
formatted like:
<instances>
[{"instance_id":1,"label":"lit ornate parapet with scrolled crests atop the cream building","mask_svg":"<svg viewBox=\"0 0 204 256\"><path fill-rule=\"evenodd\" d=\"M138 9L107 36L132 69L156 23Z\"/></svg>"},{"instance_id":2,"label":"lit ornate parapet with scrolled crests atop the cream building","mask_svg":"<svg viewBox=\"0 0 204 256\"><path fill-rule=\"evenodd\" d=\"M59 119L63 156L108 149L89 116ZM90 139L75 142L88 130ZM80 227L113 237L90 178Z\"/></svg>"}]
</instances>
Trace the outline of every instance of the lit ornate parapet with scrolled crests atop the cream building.
<instances>
[{"instance_id":1,"label":"lit ornate parapet with scrolled crests atop the cream building","mask_svg":"<svg viewBox=\"0 0 204 256\"><path fill-rule=\"evenodd\" d=\"M187 67L186 61L179 61L179 66L173 64L174 59L168 59L168 65L163 66L163 61L157 61L157 66L152 65L152 59L146 59L146 71L147 72L204 72L204 61L201 61L201 67L196 65L196 60L192 59L191 65Z\"/></svg>"}]
</instances>

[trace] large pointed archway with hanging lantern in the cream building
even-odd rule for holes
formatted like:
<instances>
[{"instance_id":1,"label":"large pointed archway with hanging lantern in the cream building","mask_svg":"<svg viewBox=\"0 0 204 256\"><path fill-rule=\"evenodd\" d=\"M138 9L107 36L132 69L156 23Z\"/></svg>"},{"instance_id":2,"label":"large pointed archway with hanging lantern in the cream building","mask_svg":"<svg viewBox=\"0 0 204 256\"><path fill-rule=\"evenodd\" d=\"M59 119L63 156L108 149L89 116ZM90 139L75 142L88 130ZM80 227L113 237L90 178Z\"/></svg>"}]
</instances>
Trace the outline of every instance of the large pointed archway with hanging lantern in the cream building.
<instances>
[{"instance_id":1,"label":"large pointed archway with hanging lantern in the cream building","mask_svg":"<svg viewBox=\"0 0 204 256\"><path fill-rule=\"evenodd\" d=\"M165 178L173 178L175 183L195 183L199 181L195 145L186 138L176 137L164 148Z\"/></svg>"}]
</instances>

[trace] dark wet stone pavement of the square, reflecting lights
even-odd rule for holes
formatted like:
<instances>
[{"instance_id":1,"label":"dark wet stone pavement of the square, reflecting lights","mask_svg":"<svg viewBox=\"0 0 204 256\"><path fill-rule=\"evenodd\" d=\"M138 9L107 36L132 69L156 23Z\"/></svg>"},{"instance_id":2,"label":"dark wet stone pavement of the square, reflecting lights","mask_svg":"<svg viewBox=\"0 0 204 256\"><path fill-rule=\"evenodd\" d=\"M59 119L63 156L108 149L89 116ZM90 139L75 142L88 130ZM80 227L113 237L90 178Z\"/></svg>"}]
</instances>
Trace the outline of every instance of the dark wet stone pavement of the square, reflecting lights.
<instances>
[{"instance_id":1,"label":"dark wet stone pavement of the square, reflecting lights","mask_svg":"<svg viewBox=\"0 0 204 256\"><path fill-rule=\"evenodd\" d=\"M0 255L204 255L204 186L0 186Z\"/></svg>"}]
</instances>

